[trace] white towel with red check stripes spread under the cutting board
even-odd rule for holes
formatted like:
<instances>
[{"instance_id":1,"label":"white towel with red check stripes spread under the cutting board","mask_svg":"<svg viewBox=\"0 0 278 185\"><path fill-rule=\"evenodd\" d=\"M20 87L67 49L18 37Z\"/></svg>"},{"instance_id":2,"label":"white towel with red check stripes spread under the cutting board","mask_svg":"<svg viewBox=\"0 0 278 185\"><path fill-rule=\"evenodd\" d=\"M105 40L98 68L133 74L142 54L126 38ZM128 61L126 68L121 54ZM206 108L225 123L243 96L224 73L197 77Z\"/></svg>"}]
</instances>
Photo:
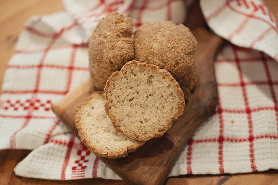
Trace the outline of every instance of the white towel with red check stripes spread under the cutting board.
<instances>
[{"instance_id":1,"label":"white towel with red check stripes spread under the cutting board","mask_svg":"<svg viewBox=\"0 0 278 185\"><path fill-rule=\"evenodd\" d=\"M65 12L32 17L7 66L0 99L0 148L33 150L15 174L120 179L50 107L89 76L88 38L107 13L131 16L134 27L147 21L183 23L190 4L65 0ZM169 175L278 169L277 22L258 0L201 1L201 8L210 28L234 45L227 44L215 61L215 114L190 139Z\"/></svg>"}]
</instances>

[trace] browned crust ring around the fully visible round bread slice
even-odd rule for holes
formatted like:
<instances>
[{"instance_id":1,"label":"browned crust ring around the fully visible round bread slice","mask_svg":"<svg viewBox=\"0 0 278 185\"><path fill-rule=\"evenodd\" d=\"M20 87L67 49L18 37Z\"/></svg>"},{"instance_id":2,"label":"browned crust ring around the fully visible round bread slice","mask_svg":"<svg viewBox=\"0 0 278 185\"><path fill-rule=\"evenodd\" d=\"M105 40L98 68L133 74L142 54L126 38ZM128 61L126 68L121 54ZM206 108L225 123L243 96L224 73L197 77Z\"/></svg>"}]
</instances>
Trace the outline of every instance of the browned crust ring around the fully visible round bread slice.
<instances>
[{"instance_id":1,"label":"browned crust ring around the fully visible round bread slice","mask_svg":"<svg viewBox=\"0 0 278 185\"><path fill-rule=\"evenodd\" d=\"M135 137L133 135L129 135L127 133L124 133L120 128L116 127L115 125L115 121L113 120L112 116L110 115L110 112L109 112L109 109L110 109L110 106L109 106L109 103L110 103L110 100L109 100L109 97L107 95L107 91L109 90L110 88L110 83L113 81L113 79L117 76L120 76L121 73L124 73L126 71L126 69L129 67L129 66L132 66L132 65L138 65L142 68L150 68L150 69L153 69L155 71L157 71L158 73L161 73L162 75L165 75L167 78L169 78L169 80L177 87L177 95L178 95L178 98L180 99L180 106L178 107L178 112L173 115L173 117L170 119L170 121L168 122L167 124L167 127L161 131L159 134L156 134L156 135L153 135L153 137L142 137L142 138L138 138L138 137ZM131 139L134 139L134 140L138 140L138 141L148 141L152 138L155 138L155 137L161 137L163 136L163 134L172 126L172 120L173 119L177 119L179 116L181 116L184 112L184 106L185 106L185 100L184 100L184 93L180 87L180 85L176 82L176 80L172 77L172 75L170 74L170 72L168 72L167 70L165 69L161 69L160 67L156 66L156 65L152 65L152 64L146 64L146 63L141 63L141 62L138 62L136 60L133 60L133 61L130 61L128 63L126 63L123 68L121 69L121 71L116 71L114 72L110 77L109 79L107 80L106 82L106 86L104 88L104 96L105 96L105 99L106 99L106 102L105 102L105 111L108 115L108 117L110 118L114 128L116 129L117 132L120 132L124 135L126 135L127 137L131 138Z\"/></svg>"}]
</instances>

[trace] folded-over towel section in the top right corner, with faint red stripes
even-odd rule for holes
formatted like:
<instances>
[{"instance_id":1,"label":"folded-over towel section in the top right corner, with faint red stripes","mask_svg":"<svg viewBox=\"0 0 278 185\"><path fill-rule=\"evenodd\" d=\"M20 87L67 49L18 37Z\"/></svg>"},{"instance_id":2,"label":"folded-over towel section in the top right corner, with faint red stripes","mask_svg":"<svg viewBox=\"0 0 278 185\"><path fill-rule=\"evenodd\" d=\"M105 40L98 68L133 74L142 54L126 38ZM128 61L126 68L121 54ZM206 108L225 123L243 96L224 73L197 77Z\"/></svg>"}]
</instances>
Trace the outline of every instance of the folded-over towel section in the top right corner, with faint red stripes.
<instances>
[{"instance_id":1,"label":"folded-over towel section in the top right corner, with faint red stripes","mask_svg":"<svg viewBox=\"0 0 278 185\"><path fill-rule=\"evenodd\" d=\"M201 0L201 8L216 34L278 61L278 24L261 0Z\"/></svg>"}]
</instances>

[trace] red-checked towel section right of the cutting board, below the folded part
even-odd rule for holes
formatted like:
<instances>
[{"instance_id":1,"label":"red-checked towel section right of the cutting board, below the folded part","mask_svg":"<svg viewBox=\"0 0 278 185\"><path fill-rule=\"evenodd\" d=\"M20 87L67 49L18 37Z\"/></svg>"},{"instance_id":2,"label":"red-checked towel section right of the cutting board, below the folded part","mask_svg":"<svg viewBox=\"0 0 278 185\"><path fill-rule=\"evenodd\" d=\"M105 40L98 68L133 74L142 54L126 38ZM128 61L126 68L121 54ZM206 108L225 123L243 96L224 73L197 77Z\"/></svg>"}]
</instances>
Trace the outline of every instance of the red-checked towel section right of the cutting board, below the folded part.
<instances>
[{"instance_id":1,"label":"red-checked towel section right of the cutting board, below the folded part","mask_svg":"<svg viewBox=\"0 0 278 185\"><path fill-rule=\"evenodd\" d=\"M263 52L227 45L215 62L218 106L171 175L278 168L278 64Z\"/></svg>"}]
</instances>

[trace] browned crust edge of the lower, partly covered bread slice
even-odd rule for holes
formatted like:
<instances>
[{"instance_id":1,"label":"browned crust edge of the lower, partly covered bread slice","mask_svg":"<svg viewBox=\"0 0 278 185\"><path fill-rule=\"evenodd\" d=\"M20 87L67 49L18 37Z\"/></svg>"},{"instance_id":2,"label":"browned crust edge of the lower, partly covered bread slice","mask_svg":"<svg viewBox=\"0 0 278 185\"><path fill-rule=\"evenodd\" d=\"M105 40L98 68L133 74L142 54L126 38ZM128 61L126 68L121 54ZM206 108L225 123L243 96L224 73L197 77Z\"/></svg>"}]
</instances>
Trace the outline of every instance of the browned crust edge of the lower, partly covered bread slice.
<instances>
[{"instance_id":1,"label":"browned crust edge of the lower, partly covered bread slice","mask_svg":"<svg viewBox=\"0 0 278 185\"><path fill-rule=\"evenodd\" d=\"M117 159L121 157L126 157L128 156L128 153L136 151L139 147L141 147L145 142L138 141L137 144L133 144L130 146L127 146L126 150L118 151L117 153L104 153L102 150L97 149L96 147L93 146L91 141L86 138L86 128L84 128L82 122L81 122L81 117L82 114L80 114L80 110L82 107L87 106L89 104L89 101L95 97L98 96L103 96L104 92L103 91L96 91L94 92L89 98L87 98L86 102L82 103L79 105L77 108L75 108L75 125L78 130L78 135L81 138L81 141L88 147L88 149L94 153L97 157L106 157L110 159Z\"/></svg>"}]
</instances>

